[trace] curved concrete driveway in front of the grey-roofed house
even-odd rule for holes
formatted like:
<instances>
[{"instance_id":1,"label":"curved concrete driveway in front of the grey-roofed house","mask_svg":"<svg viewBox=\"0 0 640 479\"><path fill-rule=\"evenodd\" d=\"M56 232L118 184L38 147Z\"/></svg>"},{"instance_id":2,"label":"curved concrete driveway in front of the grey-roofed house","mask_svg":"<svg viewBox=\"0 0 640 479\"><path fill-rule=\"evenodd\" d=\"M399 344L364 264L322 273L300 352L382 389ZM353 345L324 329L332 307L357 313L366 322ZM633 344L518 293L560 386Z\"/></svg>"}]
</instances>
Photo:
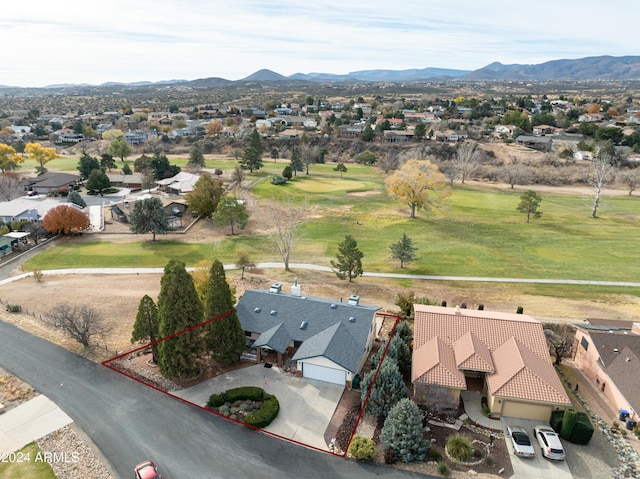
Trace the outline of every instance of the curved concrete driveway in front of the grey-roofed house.
<instances>
[{"instance_id":1,"label":"curved concrete driveway in front of the grey-roofed house","mask_svg":"<svg viewBox=\"0 0 640 479\"><path fill-rule=\"evenodd\" d=\"M344 391L344 387L337 384L298 378L278 368L257 364L173 394L204 406L211 394L240 386L257 386L278 398L278 417L265 430L323 451L329 450L324 432Z\"/></svg>"}]
</instances>

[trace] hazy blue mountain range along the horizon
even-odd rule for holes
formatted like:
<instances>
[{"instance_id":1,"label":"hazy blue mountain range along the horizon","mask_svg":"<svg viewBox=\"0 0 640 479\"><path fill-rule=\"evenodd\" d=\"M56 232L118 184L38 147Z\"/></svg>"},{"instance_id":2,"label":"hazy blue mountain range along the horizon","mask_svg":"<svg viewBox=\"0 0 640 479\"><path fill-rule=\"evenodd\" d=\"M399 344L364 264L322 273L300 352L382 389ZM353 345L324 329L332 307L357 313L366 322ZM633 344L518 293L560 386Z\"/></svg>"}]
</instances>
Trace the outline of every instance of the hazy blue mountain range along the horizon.
<instances>
[{"instance_id":1,"label":"hazy blue mountain range along the horizon","mask_svg":"<svg viewBox=\"0 0 640 479\"><path fill-rule=\"evenodd\" d=\"M272 70L258 70L241 80L220 77L198 80L166 80L135 83L108 82L99 86L148 86L186 84L191 87L222 87L254 82L414 82L414 81L594 81L640 80L640 56L609 55L574 60L552 60L534 65L491 63L478 70L447 68L413 68L409 70L360 70L344 75L334 73L296 73L284 76ZM80 85L49 85L46 88L68 88ZM88 85L85 85L88 86ZM15 88L0 85L0 88Z\"/></svg>"}]
</instances>

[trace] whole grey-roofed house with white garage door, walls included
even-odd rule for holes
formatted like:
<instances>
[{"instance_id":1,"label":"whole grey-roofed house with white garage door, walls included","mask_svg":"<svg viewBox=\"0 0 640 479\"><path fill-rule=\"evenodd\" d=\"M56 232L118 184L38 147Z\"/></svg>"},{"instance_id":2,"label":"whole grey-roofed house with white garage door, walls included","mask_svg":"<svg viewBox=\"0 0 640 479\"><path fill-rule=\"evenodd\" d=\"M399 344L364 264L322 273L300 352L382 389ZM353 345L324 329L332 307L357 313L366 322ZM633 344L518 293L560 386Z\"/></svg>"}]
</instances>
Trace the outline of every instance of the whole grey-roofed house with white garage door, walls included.
<instances>
[{"instance_id":1,"label":"whole grey-roofed house with white garage door, walls included","mask_svg":"<svg viewBox=\"0 0 640 479\"><path fill-rule=\"evenodd\" d=\"M238 318L258 357L275 351L278 365L295 363L302 377L349 385L360 373L376 336L377 306L303 296L297 280L291 294L280 284L247 290Z\"/></svg>"}]
</instances>

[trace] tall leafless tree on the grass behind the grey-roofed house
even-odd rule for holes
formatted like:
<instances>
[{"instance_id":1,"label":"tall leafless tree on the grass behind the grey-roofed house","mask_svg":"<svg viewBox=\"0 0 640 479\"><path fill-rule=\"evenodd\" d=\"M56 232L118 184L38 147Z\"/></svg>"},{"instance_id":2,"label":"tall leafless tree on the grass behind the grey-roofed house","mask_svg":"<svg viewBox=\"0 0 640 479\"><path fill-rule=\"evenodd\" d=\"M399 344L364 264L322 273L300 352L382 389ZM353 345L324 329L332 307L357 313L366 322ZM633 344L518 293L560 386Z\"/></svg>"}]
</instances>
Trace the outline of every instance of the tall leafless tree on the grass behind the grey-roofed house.
<instances>
[{"instance_id":1,"label":"tall leafless tree on the grass behind the grey-roofed house","mask_svg":"<svg viewBox=\"0 0 640 479\"><path fill-rule=\"evenodd\" d=\"M295 205L291 198L274 202L266 211L265 217L273 230L273 242L282 257L285 271L290 271L289 257L305 212L306 207Z\"/></svg>"}]
</instances>

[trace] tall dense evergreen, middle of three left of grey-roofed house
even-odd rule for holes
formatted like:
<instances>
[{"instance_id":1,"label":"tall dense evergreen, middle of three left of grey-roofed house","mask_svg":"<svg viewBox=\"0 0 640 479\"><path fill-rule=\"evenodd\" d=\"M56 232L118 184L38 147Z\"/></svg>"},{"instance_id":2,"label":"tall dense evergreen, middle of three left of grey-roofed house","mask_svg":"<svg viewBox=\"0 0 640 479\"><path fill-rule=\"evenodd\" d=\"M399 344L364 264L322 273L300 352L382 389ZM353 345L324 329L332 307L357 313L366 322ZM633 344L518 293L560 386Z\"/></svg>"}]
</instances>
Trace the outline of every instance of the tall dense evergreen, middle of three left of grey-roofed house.
<instances>
[{"instance_id":1,"label":"tall dense evergreen, middle of three left of grey-roofed house","mask_svg":"<svg viewBox=\"0 0 640 479\"><path fill-rule=\"evenodd\" d=\"M165 377L189 379L200 372L197 362L202 351L200 336L195 330L186 330L200 324L202 316L202 303L184 263L169 261L160 281L158 336L179 334L158 344L158 364Z\"/></svg>"}]
</instances>

